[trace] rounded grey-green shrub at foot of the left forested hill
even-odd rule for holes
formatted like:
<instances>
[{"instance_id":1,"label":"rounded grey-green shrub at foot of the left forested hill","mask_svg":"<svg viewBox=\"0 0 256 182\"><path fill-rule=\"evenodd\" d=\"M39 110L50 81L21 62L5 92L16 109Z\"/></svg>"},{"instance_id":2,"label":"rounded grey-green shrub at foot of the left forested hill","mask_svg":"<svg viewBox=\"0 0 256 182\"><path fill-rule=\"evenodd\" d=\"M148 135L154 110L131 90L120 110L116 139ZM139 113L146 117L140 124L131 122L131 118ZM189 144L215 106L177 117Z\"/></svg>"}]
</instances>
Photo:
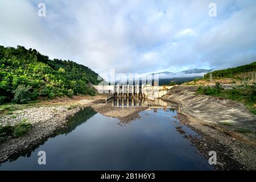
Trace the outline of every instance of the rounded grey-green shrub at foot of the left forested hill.
<instances>
[{"instance_id":1,"label":"rounded grey-green shrub at foot of the left forested hill","mask_svg":"<svg viewBox=\"0 0 256 182\"><path fill-rule=\"evenodd\" d=\"M19 104L27 103L27 101L30 101L31 93L30 89L31 86L25 86L25 85L19 85L15 90L13 90L14 98L13 101Z\"/></svg>"}]
</instances>

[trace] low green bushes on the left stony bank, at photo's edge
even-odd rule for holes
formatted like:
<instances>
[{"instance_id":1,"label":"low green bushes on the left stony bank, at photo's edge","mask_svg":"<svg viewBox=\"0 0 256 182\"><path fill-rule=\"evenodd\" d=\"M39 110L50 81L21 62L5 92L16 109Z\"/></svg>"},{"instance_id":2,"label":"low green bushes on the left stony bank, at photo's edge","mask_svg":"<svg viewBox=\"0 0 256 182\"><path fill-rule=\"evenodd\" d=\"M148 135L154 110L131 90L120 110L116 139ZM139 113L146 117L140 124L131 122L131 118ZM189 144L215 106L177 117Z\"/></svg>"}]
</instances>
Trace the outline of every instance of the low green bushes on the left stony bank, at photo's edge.
<instances>
[{"instance_id":1,"label":"low green bushes on the left stony bank, at photo's edge","mask_svg":"<svg viewBox=\"0 0 256 182\"><path fill-rule=\"evenodd\" d=\"M31 130L31 123L27 122L27 119L22 119L14 126L6 125L0 126L0 137L12 136L14 138L22 137Z\"/></svg>"}]
</instances>

